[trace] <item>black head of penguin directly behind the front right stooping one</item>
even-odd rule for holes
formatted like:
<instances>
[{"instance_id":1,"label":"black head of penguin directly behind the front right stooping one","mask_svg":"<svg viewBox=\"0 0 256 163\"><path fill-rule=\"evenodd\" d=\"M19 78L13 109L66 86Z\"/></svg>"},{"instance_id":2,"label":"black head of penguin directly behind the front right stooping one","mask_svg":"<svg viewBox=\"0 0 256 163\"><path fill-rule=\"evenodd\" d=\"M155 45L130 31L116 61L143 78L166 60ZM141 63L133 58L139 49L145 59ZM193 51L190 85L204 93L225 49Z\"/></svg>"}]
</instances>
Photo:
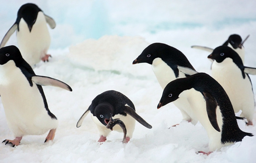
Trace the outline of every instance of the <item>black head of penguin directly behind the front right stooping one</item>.
<instances>
[{"instance_id":1,"label":"black head of penguin directly behind the front right stooping one","mask_svg":"<svg viewBox=\"0 0 256 163\"><path fill-rule=\"evenodd\" d=\"M162 43L153 43L150 44L146 49L142 51L134 61L133 64L136 63L149 63L152 64L155 58L161 58L161 55L164 53L163 50L166 47L170 47L169 45L162 44ZM165 54L165 53L164 53Z\"/></svg>"}]
</instances>

